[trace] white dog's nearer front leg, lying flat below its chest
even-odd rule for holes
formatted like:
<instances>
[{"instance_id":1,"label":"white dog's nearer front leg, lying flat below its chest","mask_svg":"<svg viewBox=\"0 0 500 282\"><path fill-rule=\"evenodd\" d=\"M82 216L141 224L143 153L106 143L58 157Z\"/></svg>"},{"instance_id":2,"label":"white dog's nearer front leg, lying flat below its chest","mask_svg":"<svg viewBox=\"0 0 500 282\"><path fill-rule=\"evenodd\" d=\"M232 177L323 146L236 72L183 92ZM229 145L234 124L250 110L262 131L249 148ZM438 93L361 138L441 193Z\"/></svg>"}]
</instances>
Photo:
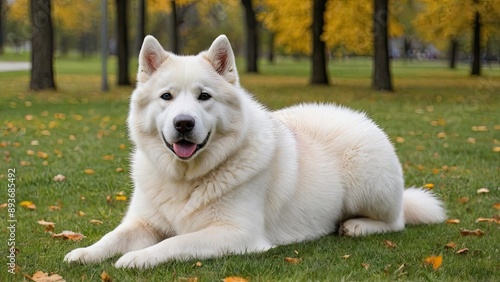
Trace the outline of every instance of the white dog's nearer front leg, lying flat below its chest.
<instances>
[{"instance_id":1,"label":"white dog's nearer front leg, lying flat below its chest","mask_svg":"<svg viewBox=\"0 0 500 282\"><path fill-rule=\"evenodd\" d=\"M123 268L149 268L170 260L220 257L225 254L266 251L272 247L263 236L245 234L235 227L211 226L178 235L143 250L122 256L115 264Z\"/></svg>"}]
</instances>

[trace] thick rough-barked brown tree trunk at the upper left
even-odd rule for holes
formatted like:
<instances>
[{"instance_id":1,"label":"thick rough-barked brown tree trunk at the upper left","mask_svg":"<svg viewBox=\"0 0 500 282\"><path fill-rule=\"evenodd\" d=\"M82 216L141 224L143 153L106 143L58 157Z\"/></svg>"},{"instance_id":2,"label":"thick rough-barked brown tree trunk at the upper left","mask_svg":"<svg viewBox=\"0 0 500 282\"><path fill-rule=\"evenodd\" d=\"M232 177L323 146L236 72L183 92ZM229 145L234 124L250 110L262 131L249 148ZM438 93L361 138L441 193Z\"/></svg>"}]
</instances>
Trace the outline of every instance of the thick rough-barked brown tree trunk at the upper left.
<instances>
[{"instance_id":1,"label":"thick rough-barked brown tree trunk at the upper left","mask_svg":"<svg viewBox=\"0 0 500 282\"><path fill-rule=\"evenodd\" d=\"M30 7L32 27L30 89L55 89L51 1L31 0Z\"/></svg>"}]
</instances>

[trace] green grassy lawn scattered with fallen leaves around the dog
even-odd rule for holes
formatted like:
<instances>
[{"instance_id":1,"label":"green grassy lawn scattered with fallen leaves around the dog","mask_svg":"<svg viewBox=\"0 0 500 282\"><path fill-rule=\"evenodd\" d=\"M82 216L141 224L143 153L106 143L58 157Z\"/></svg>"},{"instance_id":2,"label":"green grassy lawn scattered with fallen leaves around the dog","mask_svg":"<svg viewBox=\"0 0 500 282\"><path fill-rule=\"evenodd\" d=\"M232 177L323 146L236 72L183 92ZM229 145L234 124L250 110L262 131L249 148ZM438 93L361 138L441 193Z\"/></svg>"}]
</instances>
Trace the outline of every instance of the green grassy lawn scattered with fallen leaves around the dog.
<instances>
[{"instance_id":1,"label":"green grassy lawn scattered with fallen leaves around the dog","mask_svg":"<svg viewBox=\"0 0 500 282\"><path fill-rule=\"evenodd\" d=\"M100 93L97 59L58 60L57 92L27 91L28 72L0 73L0 203L7 202L8 169L15 169L19 266L17 274L8 273L10 223L2 208L0 281L27 280L25 274L38 270L67 281L100 281L103 271L113 281L221 281L229 276L251 281L498 281L500 225L476 220L500 217L500 70L486 69L485 77L471 78L467 66L450 71L444 63L395 62L393 67L395 93L369 90L371 69L363 59L331 63L331 87L307 86L305 60L263 63L265 75L242 75L241 80L271 109L322 101L367 112L394 142L406 184L434 184L449 218L459 219L458 224L408 226L363 238L332 234L262 254L169 262L152 270L115 269L117 257L96 265L62 262L70 250L111 231L126 211L132 148L125 119L132 88ZM58 174L65 181L54 181ZM480 188L489 193L478 194ZM119 193L128 199L119 201ZM22 207L22 201L36 209ZM71 230L85 238L52 238L37 223L42 219L55 223L55 233ZM90 223L94 219L102 224ZM461 236L462 229L481 229L484 235ZM388 247L385 240L396 246ZM456 247L445 248L450 242ZM457 254L463 248L468 251ZM426 264L430 256L442 256L441 266ZM290 264L285 257L301 261Z\"/></svg>"}]
</instances>

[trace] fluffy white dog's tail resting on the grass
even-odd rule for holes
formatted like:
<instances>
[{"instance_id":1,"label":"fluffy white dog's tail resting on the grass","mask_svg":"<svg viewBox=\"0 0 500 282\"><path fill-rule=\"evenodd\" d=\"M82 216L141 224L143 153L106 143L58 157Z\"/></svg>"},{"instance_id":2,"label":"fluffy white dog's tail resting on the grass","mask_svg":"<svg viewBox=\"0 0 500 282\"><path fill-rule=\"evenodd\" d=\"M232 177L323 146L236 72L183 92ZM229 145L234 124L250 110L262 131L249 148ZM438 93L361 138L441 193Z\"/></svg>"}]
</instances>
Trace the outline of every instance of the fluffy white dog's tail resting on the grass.
<instances>
[{"instance_id":1,"label":"fluffy white dog's tail resting on the grass","mask_svg":"<svg viewBox=\"0 0 500 282\"><path fill-rule=\"evenodd\" d=\"M431 224L446 219L443 203L434 193L423 188L408 188L403 194L405 223Z\"/></svg>"}]
</instances>

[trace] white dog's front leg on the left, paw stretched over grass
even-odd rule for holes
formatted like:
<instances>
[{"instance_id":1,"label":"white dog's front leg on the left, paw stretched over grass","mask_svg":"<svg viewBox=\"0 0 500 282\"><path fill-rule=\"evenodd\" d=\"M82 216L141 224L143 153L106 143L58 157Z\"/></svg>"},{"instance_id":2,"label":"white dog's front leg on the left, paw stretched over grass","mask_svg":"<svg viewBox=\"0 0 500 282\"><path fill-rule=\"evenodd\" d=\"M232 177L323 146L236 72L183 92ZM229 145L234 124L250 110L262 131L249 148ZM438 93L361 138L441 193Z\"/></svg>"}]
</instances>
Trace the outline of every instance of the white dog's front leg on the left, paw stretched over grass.
<instances>
[{"instance_id":1,"label":"white dog's front leg on the left, paw stretched over grass","mask_svg":"<svg viewBox=\"0 0 500 282\"><path fill-rule=\"evenodd\" d=\"M95 244L69 252L64 261L96 263L117 254L147 248L159 240L158 234L144 221L129 216Z\"/></svg>"}]
</instances>

